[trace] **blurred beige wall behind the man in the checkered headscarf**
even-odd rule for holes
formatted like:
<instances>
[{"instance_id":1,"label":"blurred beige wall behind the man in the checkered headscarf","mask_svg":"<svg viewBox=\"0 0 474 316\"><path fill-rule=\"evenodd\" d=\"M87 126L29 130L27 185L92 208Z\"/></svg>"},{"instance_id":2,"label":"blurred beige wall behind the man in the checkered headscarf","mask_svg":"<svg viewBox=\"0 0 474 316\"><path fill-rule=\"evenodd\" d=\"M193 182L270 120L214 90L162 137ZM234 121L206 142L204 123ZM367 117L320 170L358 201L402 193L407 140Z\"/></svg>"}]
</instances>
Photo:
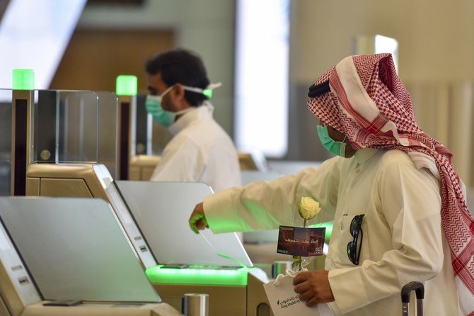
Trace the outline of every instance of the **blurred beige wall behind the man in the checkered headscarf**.
<instances>
[{"instance_id":1,"label":"blurred beige wall behind the man in the checkered headscarf","mask_svg":"<svg viewBox=\"0 0 474 316\"><path fill-rule=\"evenodd\" d=\"M473 186L474 2L299 0L292 4L290 111L296 107L293 113L298 114L290 119L295 128L289 129L289 138L296 144L289 156L312 159L320 152L313 146L318 144L314 122L306 118L311 115L299 111L307 99L307 86L353 53L355 36L381 34L398 40L398 72L412 95L417 122L453 152L458 173Z\"/></svg>"}]
</instances>

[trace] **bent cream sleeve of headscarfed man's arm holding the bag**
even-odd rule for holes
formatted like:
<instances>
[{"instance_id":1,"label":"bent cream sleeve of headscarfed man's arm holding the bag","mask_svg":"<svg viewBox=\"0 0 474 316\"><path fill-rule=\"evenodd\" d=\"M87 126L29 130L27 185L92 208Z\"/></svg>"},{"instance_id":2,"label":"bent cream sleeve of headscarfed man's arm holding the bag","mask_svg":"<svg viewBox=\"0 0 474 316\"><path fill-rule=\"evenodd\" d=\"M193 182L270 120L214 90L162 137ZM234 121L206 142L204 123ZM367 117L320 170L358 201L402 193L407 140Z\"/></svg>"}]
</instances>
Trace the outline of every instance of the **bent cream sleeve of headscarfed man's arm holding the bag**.
<instances>
[{"instance_id":1,"label":"bent cream sleeve of headscarfed man's arm holding the bag","mask_svg":"<svg viewBox=\"0 0 474 316\"><path fill-rule=\"evenodd\" d=\"M378 261L329 272L337 314L400 295L406 283L427 281L442 268L439 182L426 169L393 164L381 172L376 185L371 198L391 230L393 250Z\"/></svg>"}]
</instances>

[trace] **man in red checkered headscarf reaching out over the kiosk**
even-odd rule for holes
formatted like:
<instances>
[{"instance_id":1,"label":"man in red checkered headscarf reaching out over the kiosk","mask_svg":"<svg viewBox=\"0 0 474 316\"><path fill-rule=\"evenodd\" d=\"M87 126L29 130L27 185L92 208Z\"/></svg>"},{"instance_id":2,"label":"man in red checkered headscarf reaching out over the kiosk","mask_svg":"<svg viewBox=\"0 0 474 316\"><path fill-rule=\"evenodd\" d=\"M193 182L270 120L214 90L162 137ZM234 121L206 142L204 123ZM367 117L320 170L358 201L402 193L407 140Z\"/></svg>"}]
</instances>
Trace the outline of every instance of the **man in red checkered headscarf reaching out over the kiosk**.
<instances>
[{"instance_id":1,"label":"man in red checkered headscarf reaching out over the kiosk","mask_svg":"<svg viewBox=\"0 0 474 316\"><path fill-rule=\"evenodd\" d=\"M424 283L427 315L474 316L473 218L451 152L415 123L410 95L389 54L347 57L310 87L323 146L318 168L208 196L196 231L296 225L311 196L316 222L334 220L325 269L294 278L308 306L335 315L399 315L400 289ZM296 213L297 214L297 213Z\"/></svg>"}]
</instances>

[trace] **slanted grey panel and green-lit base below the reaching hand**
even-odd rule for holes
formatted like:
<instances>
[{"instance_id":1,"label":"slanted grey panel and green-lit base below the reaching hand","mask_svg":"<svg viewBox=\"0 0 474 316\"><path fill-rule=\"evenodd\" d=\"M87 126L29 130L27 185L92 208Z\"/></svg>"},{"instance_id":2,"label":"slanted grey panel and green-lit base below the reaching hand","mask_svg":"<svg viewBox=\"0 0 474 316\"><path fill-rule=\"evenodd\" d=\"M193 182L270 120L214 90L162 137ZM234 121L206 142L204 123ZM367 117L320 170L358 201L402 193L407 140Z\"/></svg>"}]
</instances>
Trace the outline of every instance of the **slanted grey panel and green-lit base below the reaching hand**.
<instances>
[{"instance_id":1,"label":"slanted grey panel and green-lit base below the reaching hand","mask_svg":"<svg viewBox=\"0 0 474 316\"><path fill-rule=\"evenodd\" d=\"M262 286L267 274L253 266L236 233L190 230L191 210L212 188L156 181L115 186L158 262L146 274L163 301L177 307L185 293L207 293L209 315L272 315Z\"/></svg>"}]
</instances>

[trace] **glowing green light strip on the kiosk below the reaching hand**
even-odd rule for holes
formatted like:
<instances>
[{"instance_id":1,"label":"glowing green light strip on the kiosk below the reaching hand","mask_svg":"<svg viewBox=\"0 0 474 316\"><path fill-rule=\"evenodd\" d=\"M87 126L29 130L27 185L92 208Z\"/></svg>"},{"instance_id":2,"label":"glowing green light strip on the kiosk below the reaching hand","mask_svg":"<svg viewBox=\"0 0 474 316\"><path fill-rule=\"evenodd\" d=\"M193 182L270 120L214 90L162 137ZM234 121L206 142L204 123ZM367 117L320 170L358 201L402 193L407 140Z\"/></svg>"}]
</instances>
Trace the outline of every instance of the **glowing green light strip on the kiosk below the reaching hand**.
<instances>
[{"instance_id":1,"label":"glowing green light strip on the kiosk below the reaching hand","mask_svg":"<svg viewBox=\"0 0 474 316\"><path fill-rule=\"evenodd\" d=\"M197 269L192 269L193 267ZM202 266L166 269L163 265L158 265L146 269L145 273L151 283L246 286L248 272L253 269L255 268L202 269Z\"/></svg>"}]
</instances>

